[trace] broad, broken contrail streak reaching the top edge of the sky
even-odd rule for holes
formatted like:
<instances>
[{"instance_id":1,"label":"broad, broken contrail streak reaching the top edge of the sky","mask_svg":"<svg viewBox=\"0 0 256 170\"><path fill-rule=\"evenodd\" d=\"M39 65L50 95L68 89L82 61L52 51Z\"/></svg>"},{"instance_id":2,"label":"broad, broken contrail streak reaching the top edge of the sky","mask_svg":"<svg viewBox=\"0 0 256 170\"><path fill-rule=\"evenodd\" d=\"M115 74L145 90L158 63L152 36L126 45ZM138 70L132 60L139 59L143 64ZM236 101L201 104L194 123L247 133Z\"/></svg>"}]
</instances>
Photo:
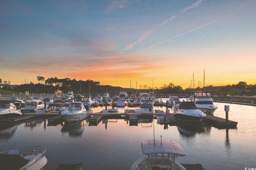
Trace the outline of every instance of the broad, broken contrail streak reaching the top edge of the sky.
<instances>
[{"instance_id":1,"label":"broad, broken contrail streak reaching the top edge of the sky","mask_svg":"<svg viewBox=\"0 0 256 170\"><path fill-rule=\"evenodd\" d=\"M184 8L182 11L180 11L180 13L183 13L183 12L185 12L185 11L187 11L187 10L190 10L190 9L192 9L192 8L195 8L195 7L199 6L200 4L202 4L203 1L204 1L204 0L198 0L198 1L195 2L194 4L192 4L192 5L190 5L190 6L186 7L186 8ZM155 30L156 28L161 27L161 26L167 24L168 22L173 21L173 20L176 19L176 18L177 18L177 15L173 15L173 16L171 16L169 19L166 19L166 20L162 21L160 24L155 25L153 28L151 28L150 30L148 30L148 31L146 31L145 33L143 33L143 35L142 35L137 41L135 41L135 42L133 42L133 43L127 45L127 46L124 48L124 51L129 50L129 49L132 49L132 48L133 48L135 45L137 45L138 43L142 43L145 39L147 39L147 38L151 35L151 33L154 32L154 30Z\"/></svg>"}]
</instances>

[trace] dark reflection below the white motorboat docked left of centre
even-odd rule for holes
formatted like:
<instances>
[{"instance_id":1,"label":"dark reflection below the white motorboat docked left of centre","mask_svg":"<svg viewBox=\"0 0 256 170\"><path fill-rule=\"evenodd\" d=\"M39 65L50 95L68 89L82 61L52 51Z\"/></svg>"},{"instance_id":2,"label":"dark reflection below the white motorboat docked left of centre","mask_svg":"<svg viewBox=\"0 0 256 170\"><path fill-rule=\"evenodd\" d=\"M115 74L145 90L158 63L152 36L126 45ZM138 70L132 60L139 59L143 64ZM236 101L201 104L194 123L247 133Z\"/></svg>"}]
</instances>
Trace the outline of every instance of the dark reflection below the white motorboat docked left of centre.
<instances>
[{"instance_id":1,"label":"dark reflection below the white motorboat docked left of centre","mask_svg":"<svg viewBox=\"0 0 256 170\"><path fill-rule=\"evenodd\" d=\"M81 137L84 132L84 126L88 124L87 120L76 121L76 122L63 122L62 123L62 134L68 133L69 137Z\"/></svg>"}]
</instances>

